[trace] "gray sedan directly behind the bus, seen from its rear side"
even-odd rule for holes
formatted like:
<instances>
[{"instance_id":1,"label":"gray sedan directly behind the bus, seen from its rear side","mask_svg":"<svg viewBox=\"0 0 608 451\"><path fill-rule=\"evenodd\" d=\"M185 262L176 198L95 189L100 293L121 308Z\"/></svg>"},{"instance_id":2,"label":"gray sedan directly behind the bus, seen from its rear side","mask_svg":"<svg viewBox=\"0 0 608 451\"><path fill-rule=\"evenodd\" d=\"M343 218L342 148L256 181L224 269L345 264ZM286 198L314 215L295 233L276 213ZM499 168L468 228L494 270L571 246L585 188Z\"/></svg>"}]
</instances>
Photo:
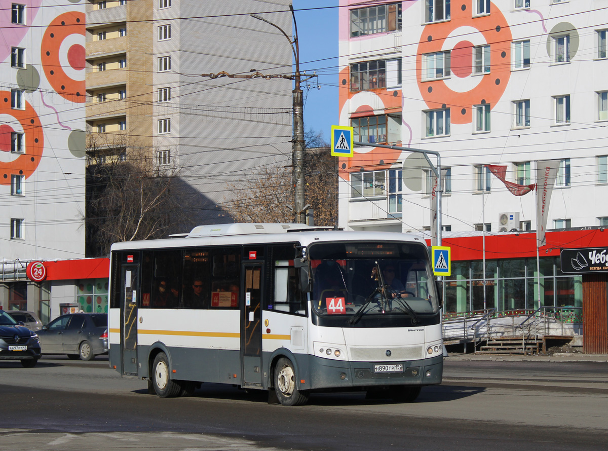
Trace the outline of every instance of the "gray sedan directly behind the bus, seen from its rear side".
<instances>
[{"instance_id":1,"label":"gray sedan directly behind the bus, seen from its rear side","mask_svg":"<svg viewBox=\"0 0 608 451\"><path fill-rule=\"evenodd\" d=\"M91 360L108 354L108 315L61 315L38 331L43 354L67 354L70 359Z\"/></svg>"}]
</instances>

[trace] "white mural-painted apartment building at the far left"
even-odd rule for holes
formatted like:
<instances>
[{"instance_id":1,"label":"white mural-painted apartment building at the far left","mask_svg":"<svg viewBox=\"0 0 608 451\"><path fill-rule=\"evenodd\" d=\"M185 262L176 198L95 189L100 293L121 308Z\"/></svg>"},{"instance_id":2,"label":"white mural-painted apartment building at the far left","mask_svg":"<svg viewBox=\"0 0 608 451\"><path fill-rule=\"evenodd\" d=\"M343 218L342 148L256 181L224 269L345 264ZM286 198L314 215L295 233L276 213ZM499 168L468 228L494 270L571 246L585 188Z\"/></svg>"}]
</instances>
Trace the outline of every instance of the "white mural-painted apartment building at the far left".
<instances>
[{"instance_id":1,"label":"white mural-painted apartment building at the far left","mask_svg":"<svg viewBox=\"0 0 608 451\"><path fill-rule=\"evenodd\" d=\"M27 264L85 255L84 4L2 2L0 34L0 308L39 311Z\"/></svg>"}]
</instances>

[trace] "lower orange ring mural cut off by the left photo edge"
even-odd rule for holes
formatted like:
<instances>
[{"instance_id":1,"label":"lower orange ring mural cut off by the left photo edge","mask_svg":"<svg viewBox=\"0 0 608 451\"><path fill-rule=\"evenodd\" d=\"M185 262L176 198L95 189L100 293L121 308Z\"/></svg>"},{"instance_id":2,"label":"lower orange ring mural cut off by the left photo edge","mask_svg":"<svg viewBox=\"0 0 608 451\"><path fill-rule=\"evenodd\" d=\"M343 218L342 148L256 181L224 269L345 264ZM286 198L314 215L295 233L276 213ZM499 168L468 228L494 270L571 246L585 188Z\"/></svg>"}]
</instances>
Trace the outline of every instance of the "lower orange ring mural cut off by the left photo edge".
<instances>
[{"instance_id":1,"label":"lower orange ring mural cut off by the left photo edge","mask_svg":"<svg viewBox=\"0 0 608 451\"><path fill-rule=\"evenodd\" d=\"M10 176L19 174L29 177L34 173L44 148L44 136L38 114L32 105L25 102L25 109L10 108L10 92L0 91L0 114L13 116L19 121L25 137L25 153L19 155L15 160L0 163L0 185L10 185ZM10 131L8 131L10 133Z\"/></svg>"}]
</instances>

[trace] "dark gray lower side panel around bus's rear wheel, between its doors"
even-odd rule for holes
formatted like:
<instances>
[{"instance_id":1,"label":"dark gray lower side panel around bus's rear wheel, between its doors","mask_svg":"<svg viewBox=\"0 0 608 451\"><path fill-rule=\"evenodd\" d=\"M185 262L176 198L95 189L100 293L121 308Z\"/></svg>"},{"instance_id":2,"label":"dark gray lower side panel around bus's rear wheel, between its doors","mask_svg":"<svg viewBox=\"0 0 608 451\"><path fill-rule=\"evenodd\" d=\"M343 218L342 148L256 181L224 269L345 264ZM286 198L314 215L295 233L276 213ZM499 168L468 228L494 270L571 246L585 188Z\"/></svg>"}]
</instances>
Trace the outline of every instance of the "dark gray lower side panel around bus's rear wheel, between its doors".
<instances>
[{"instance_id":1,"label":"dark gray lower side panel around bus's rear wheel, between its doors","mask_svg":"<svg viewBox=\"0 0 608 451\"><path fill-rule=\"evenodd\" d=\"M151 346L139 346L139 375L149 377L147 370ZM226 349L168 348L171 379L241 384L240 351ZM234 375L237 377L234 377Z\"/></svg>"}]
</instances>

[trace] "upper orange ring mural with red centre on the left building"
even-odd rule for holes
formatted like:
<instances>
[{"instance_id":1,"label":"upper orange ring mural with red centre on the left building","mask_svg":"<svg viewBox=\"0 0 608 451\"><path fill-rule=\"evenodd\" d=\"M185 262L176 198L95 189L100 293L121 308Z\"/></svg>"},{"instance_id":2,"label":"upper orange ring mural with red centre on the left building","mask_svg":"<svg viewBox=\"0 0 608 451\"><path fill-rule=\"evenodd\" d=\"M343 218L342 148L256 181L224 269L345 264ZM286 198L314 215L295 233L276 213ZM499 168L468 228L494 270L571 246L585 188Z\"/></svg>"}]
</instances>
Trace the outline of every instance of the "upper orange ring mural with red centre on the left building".
<instances>
[{"instance_id":1,"label":"upper orange ring mural with red centre on the left building","mask_svg":"<svg viewBox=\"0 0 608 451\"><path fill-rule=\"evenodd\" d=\"M61 43L71 35L85 36L85 15L83 13L64 13L50 22L42 38L41 57L44 74L61 97L70 102L85 103L85 80L74 80L61 66ZM75 43L66 50L69 66L75 71L84 71L85 47ZM69 89L69 92L66 92L66 88Z\"/></svg>"}]
</instances>

